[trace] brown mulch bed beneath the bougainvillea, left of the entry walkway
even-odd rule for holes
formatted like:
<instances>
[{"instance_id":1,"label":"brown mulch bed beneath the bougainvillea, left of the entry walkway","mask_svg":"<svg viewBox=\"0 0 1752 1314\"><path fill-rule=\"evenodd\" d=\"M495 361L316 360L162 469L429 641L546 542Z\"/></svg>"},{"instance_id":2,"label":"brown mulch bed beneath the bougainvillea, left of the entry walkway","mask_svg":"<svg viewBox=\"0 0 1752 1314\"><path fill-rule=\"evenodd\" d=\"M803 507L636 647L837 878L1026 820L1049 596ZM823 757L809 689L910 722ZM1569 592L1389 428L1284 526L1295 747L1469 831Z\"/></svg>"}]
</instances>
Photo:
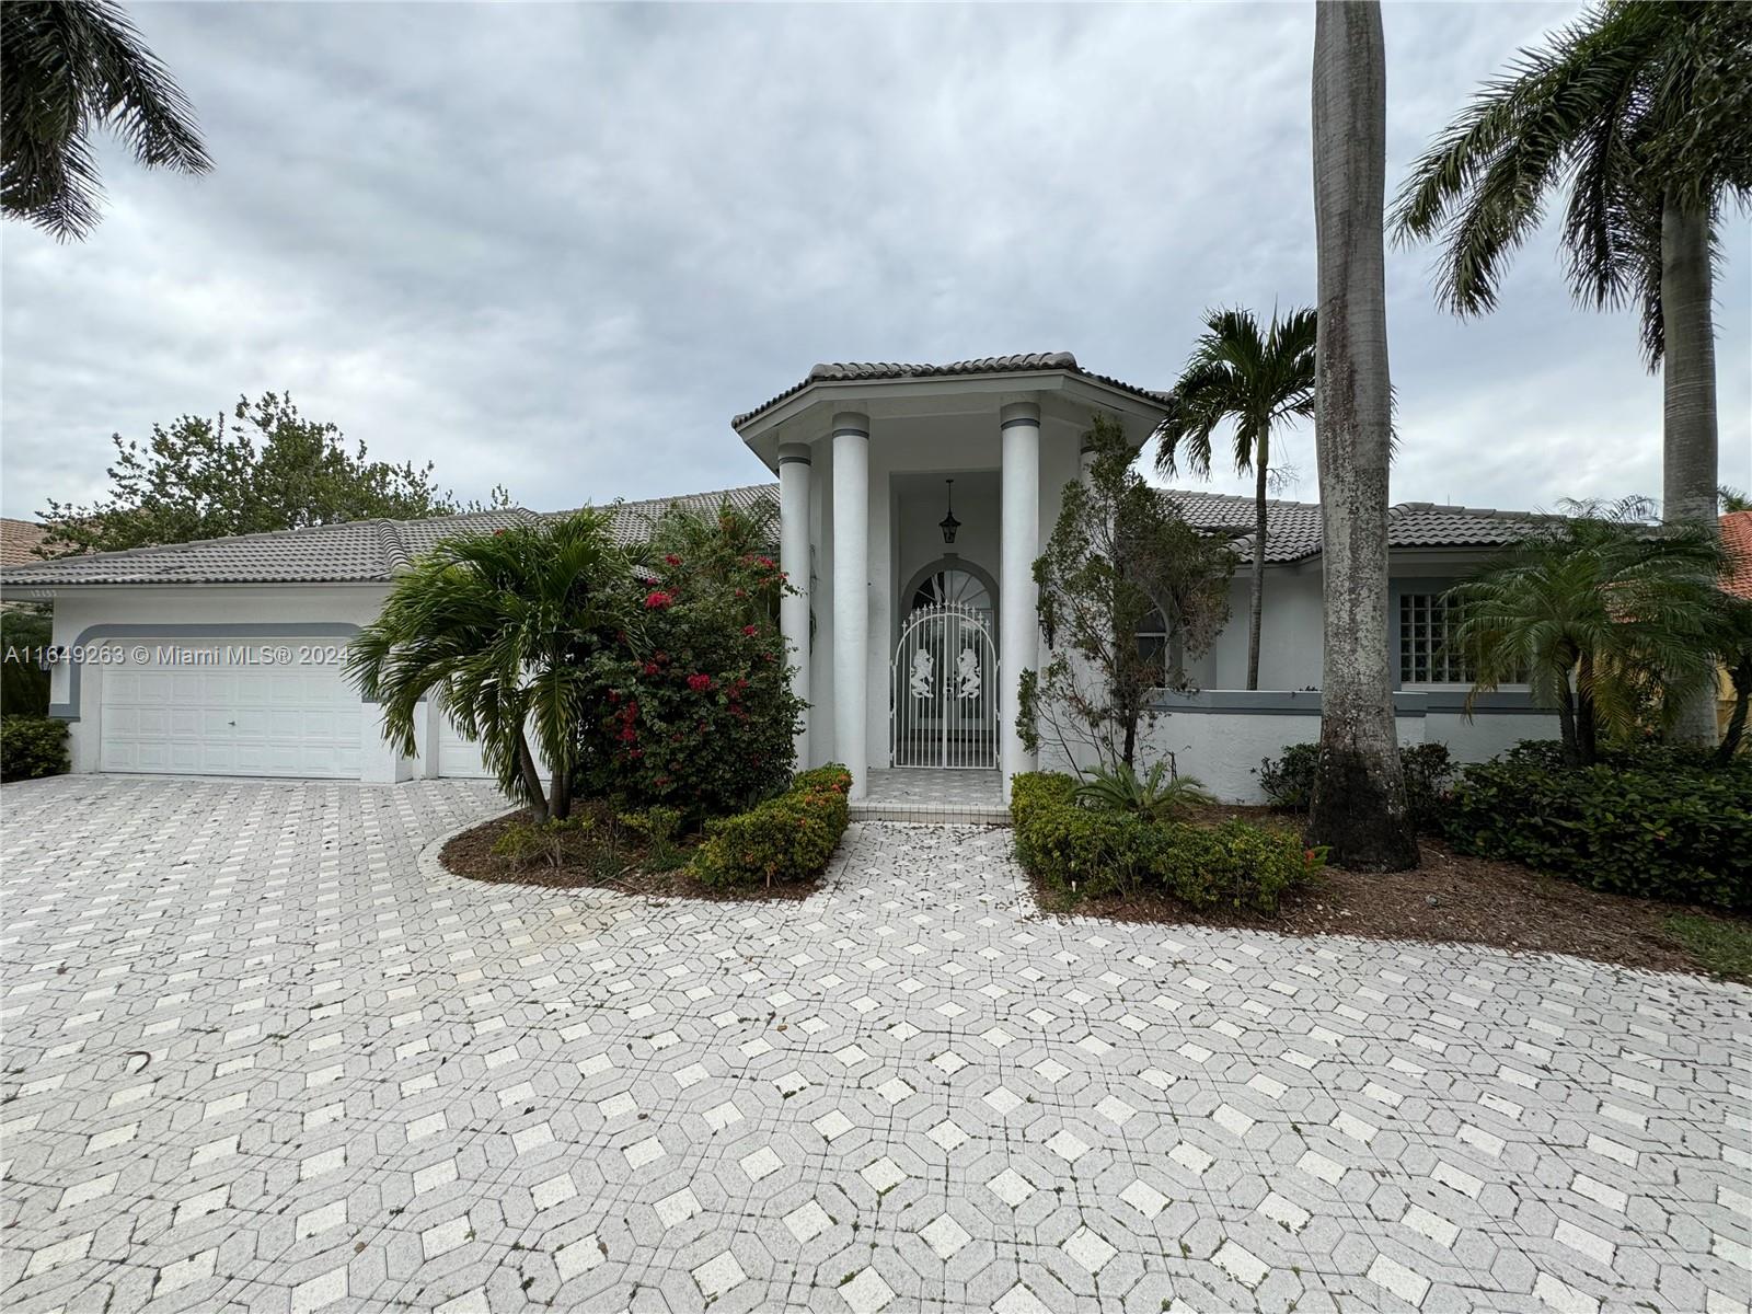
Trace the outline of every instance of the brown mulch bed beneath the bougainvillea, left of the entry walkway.
<instances>
[{"instance_id":1,"label":"brown mulch bed beneath the bougainvillea, left of the entry walkway","mask_svg":"<svg viewBox=\"0 0 1752 1314\"><path fill-rule=\"evenodd\" d=\"M613 862L604 864L599 846L583 843L573 836L561 841L561 860L552 864L536 857L522 864L492 851L494 843L513 822L527 822L527 811L513 811L494 816L471 830L450 839L438 853L438 860L454 876L489 885L531 885L541 890L615 890L617 894L638 894L650 899L708 899L713 902L762 902L808 899L820 888L820 881L801 881L792 885L774 885L773 888L736 888L715 890L701 885L687 874L687 867L673 871L646 871L639 865L638 850L622 850ZM692 848L697 836L682 836L676 844Z\"/></svg>"}]
</instances>

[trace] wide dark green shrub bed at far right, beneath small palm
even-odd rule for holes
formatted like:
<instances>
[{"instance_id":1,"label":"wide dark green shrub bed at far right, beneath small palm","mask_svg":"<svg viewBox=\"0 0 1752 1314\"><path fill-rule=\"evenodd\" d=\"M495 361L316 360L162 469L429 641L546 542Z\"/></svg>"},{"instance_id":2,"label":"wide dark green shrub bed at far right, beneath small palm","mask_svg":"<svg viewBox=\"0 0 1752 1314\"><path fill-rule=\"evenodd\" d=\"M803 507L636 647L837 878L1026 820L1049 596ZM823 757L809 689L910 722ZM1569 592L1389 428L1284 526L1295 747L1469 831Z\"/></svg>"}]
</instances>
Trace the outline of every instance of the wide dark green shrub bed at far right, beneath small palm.
<instances>
[{"instance_id":1,"label":"wide dark green shrub bed at far right, beneath small palm","mask_svg":"<svg viewBox=\"0 0 1752 1314\"><path fill-rule=\"evenodd\" d=\"M1594 890L1752 909L1752 766L1654 769L1552 764L1542 745L1465 767L1444 832L1454 848L1515 858Z\"/></svg>"}]
</instances>

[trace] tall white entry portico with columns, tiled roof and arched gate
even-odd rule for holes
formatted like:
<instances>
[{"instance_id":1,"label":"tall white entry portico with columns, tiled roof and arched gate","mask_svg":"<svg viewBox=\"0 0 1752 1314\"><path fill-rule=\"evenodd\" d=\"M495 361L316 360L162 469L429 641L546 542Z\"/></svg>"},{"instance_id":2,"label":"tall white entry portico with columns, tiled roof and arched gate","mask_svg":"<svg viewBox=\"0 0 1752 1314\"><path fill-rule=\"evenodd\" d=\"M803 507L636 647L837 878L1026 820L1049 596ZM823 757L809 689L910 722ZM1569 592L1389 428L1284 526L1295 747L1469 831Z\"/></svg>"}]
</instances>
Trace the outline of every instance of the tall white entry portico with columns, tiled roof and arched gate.
<instances>
[{"instance_id":1,"label":"tall white entry portico with columns, tiled roof and arched gate","mask_svg":"<svg viewBox=\"0 0 1752 1314\"><path fill-rule=\"evenodd\" d=\"M888 766L1032 769L1014 711L1039 666L1034 559L1093 412L1137 445L1165 413L1053 352L818 364L734 419L780 478L801 762L844 762L853 797Z\"/></svg>"}]
</instances>

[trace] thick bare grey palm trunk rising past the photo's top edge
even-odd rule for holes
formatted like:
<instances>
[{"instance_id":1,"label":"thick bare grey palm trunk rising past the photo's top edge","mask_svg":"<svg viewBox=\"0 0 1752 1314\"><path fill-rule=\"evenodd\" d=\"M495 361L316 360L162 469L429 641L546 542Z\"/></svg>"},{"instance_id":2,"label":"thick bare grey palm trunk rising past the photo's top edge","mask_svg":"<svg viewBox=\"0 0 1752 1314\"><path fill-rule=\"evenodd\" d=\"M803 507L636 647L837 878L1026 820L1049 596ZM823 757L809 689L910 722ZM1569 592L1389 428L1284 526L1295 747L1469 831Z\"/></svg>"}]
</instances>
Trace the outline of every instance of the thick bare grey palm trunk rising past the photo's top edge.
<instances>
[{"instance_id":1,"label":"thick bare grey palm trunk rising past the photo's top edge","mask_svg":"<svg viewBox=\"0 0 1752 1314\"><path fill-rule=\"evenodd\" d=\"M1318 5L1314 443L1326 625L1309 839L1340 865L1403 871L1417 865L1417 841L1388 671L1386 84L1379 4Z\"/></svg>"}]
</instances>

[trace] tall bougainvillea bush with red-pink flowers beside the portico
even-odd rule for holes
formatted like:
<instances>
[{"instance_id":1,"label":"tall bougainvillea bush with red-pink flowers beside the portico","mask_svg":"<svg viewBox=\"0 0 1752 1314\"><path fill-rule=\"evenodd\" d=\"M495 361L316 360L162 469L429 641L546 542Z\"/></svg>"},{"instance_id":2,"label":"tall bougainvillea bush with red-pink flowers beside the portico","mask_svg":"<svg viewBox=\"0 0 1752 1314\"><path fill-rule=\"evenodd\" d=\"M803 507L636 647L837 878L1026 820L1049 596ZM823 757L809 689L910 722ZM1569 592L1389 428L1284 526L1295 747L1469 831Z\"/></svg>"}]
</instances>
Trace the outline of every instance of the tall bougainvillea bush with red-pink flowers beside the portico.
<instances>
[{"instance_id":1,"label":"tall bougainvillea bush with red-pink flowers beside the portico","mask_svg":"<svg viewBox=\"0 0 1752 1314\"><path fill-rule=\"evenodd\" d=\"M804 704L787 678L778 564L748 550L741 513L687 519L659 524L639 620L592 659L580 785L697 822L787 787Z\"/></svg>"}]
</instances>

